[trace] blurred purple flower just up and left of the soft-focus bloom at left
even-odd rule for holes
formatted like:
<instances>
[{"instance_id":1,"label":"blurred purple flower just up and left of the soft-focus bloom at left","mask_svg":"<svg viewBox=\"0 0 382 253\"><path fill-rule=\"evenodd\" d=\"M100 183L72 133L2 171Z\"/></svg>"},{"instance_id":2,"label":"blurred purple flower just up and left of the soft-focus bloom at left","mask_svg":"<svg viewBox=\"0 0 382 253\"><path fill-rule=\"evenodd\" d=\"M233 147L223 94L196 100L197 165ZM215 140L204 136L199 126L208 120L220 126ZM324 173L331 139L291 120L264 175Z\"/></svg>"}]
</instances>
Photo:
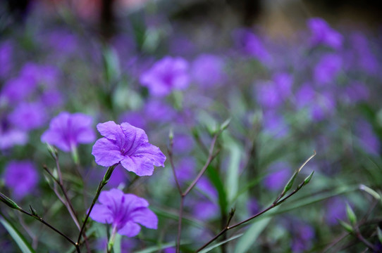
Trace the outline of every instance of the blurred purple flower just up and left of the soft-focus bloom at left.
<instances>
[{"instance_id":1,"label":"blurred purple flower just up and left of the soft-focus bloom at left","mask_svg":"<svg viewBox=\"0 0 382 253\"><path fill-rule=\"evenodd\" d=\"M47 112L40 103L20 103L8 115L8 120L19 129L30 131L37 129L47 121Z\"/></svg>"}]
</instances>

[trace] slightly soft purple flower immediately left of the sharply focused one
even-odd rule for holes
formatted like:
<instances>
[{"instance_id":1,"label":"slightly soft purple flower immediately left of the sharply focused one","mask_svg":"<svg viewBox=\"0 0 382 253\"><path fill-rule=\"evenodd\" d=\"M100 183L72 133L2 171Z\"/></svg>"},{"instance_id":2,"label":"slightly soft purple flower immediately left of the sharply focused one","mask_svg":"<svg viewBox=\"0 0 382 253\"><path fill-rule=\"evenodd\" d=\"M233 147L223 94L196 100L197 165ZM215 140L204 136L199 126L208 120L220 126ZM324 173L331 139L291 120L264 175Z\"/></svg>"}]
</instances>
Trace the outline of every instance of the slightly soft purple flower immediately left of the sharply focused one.
<instances>
[{"instance_id":1,"label":"slightly soft purple flower immediately left of the sharply focused one","mask_svg":"<svg viewBox=\"0 0 382 253\"><path fill-rule=\"evenodd\" d=\"M41 141L68 152L75 150L78 143L91 143L94 138L92 117L82 113L61 112L51 119L49 129L42 134Z\"/></svg>"}]
</instances>

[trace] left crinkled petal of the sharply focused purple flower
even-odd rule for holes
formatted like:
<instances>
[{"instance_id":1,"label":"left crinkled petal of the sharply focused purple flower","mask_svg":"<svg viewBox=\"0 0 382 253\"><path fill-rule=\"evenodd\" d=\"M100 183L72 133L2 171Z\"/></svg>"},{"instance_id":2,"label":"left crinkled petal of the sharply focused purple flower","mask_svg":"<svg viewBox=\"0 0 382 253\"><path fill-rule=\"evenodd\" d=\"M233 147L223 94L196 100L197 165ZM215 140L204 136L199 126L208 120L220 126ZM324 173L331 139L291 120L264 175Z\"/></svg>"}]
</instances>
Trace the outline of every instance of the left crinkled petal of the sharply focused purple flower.
<instances>
[{"instance_id":1,"label":"left crinkled petal of the sharply focused purple flower","mask_svg":"<svg viewBox=\"0 0 382 253\"><path fill-rule=\"evenodd\" d=\"M95 161L101 166L111 166L123 160L123 155L118 146L107 138L100 138L93 145L92 155Z\"/></svg>"}]
</instances>

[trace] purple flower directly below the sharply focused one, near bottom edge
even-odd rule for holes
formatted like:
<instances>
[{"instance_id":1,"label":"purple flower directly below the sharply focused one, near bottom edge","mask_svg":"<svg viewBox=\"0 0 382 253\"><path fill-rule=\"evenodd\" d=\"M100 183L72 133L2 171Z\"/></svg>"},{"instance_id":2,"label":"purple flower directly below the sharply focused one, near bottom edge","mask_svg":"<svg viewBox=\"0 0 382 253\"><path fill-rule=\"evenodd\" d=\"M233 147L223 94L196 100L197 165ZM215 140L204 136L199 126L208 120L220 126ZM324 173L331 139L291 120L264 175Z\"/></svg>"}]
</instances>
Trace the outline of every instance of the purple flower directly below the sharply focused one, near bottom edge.
<instances>
[{"instance_id":1,"label":"purple flower directly below the sharply focused one, near bottom edge","mask_svg":"<svg viewBox=\"0 0 382 253\"><path fill-rule=\"evenodd\" d=\"M137 223L152 229L158 226L158 218L141 197L111 189L101 192L99 202L101 204L94 205L90 217L94 221L111 224L113 231L120 235L133 237L140 233Z\"/></svg>"}]
</instances>

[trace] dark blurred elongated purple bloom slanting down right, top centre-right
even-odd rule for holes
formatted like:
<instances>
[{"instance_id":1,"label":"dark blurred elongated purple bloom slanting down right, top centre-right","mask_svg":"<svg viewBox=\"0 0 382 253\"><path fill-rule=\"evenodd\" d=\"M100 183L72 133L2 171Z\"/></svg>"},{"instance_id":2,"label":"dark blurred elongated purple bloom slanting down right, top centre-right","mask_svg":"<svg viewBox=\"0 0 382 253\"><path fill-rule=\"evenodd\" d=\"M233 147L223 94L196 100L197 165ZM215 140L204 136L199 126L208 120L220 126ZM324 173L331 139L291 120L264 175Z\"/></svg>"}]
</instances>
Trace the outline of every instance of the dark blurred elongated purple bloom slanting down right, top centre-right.
<instances>
[{"instance_id":1,"label":"dark blurred elongated purple bloom slanting down right, top centre-right","mask_svg":"<svg viewBox=\"0 0 382 253\"><path fill-rule=\"evenodd\" d=\"M235 30L235 32L233 32L233 39L236 47L248 56L257 58L261 63L266 63L270 60L269 53L264 48L259 37L250 30Z\"/></svg>"}]
</instances>

